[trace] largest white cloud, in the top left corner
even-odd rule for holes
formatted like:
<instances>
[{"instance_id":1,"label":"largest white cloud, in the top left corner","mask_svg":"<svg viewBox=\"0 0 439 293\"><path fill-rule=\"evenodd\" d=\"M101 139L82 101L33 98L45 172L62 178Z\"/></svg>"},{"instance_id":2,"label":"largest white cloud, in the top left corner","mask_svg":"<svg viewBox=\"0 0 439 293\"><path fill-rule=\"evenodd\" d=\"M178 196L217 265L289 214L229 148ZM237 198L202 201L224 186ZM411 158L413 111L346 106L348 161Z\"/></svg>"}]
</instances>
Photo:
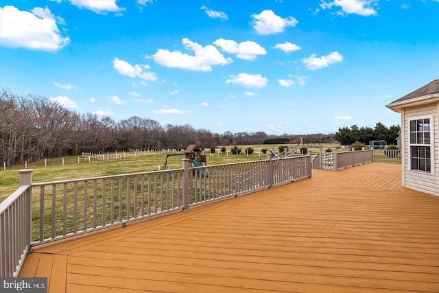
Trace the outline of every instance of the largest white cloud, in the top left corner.
<instances>
[{"instance_id":1,"label":"largest white cloud, in the top left corner","mask_svg":"<svg viewBox=\"0 0 439 293\"><path fill-rule=\"evenodd\" d=\"M58 23L49 8L34 8L32 12L21 11L14 6L0 7L0 44L5 47L25 47L34 50L56 51L70 43L62 36Z\"/></svg>"}]
</instances>

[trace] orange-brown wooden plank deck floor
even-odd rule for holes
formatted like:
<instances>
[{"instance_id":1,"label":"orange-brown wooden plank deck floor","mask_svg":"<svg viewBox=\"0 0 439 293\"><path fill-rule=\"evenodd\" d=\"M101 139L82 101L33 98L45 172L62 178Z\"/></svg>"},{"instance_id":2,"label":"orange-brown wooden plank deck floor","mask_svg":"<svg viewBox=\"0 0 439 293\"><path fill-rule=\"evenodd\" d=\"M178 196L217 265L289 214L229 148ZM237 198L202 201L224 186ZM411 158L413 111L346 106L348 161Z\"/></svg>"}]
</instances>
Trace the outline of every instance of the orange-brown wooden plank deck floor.
<instances>
[{"instance_id":1,"label":"orange-brown wooden plank deck floor","mask_svg":"<svg viewBox=\"0 0 439 293\"><path fill-rule=\"evenodd\" d=\"M439 198L370 163L37 246L49 292L439 292Z\"/></svg>"}]
</instances>

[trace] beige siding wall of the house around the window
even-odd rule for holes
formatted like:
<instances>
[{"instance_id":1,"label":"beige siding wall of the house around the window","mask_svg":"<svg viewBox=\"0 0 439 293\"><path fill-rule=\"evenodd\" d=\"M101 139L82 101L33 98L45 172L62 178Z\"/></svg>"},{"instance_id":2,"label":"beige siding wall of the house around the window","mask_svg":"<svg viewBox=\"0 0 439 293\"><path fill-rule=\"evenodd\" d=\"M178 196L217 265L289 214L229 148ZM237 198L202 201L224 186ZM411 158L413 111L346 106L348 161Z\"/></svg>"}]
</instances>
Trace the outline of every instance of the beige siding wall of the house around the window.
<instances>
[{"instance_id":1,"label":"beige siding wall of the house around the window","mask_svg":"<svg viewBox=\"0 0 439 293\"><path fill-rule=\"evenodd\" d=\"M425 174L423 172L410 170L409 121L413 117L423 115L433 115L434 155L432 159L434 159L434 174ZM439 196L439 103L404 108L401 118L403 125L403 131L401 131L401 133L403 133L403 137L401 137L401 145L404 154L402 162L402 185L403 187Z\"/></svg>"}]
</instances>

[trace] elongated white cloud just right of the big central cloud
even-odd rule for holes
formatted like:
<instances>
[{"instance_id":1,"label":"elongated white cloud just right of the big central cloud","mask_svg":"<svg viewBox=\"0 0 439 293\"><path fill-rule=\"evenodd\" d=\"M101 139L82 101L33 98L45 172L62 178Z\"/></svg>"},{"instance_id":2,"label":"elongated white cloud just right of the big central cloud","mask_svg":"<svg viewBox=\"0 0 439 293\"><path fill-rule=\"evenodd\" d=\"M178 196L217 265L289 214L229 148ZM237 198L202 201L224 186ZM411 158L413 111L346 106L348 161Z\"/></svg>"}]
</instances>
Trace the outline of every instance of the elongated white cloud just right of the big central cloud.
<instances>
[{"instance_id":1,"label":"elongated white cloud just right of the big central cloud","mask_svg":"<svg viewBox=\"0 0 439 293\"><path fill-rule=\"evenodd\" d=\"M223 51L231 54L237 54L237 58L244 60L255 60L258 55L265 55L267 51L258 43L247 40L242 43L236 43L235 40L225 40L219 38L213 42L214 45L220 47Z\"/></svg>"}]
</instances>

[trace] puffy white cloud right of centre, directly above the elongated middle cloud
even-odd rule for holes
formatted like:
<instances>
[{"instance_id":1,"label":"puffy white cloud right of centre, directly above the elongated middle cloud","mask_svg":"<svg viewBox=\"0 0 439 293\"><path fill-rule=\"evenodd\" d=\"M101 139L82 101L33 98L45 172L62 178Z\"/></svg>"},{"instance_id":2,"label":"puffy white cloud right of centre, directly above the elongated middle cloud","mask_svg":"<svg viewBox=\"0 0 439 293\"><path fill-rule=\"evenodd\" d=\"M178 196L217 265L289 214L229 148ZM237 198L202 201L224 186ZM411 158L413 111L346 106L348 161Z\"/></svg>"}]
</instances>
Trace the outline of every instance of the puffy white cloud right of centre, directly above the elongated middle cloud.
<instances>
[{"instance_id":1,"label":"puffy white cloud right of centre, directly above the elongated middle cloud","mask_svg":"<svg viewBox=\"0 0 439 293\"><path fill-rule=\"evenodd\" d=\"M272 10L264 10L260 14L252 15L252 25L258 34L268 35L283 32L285 27L294 27L299 22L292 16L283 19L277 16Z\"/></svg>"}]
</instances>

